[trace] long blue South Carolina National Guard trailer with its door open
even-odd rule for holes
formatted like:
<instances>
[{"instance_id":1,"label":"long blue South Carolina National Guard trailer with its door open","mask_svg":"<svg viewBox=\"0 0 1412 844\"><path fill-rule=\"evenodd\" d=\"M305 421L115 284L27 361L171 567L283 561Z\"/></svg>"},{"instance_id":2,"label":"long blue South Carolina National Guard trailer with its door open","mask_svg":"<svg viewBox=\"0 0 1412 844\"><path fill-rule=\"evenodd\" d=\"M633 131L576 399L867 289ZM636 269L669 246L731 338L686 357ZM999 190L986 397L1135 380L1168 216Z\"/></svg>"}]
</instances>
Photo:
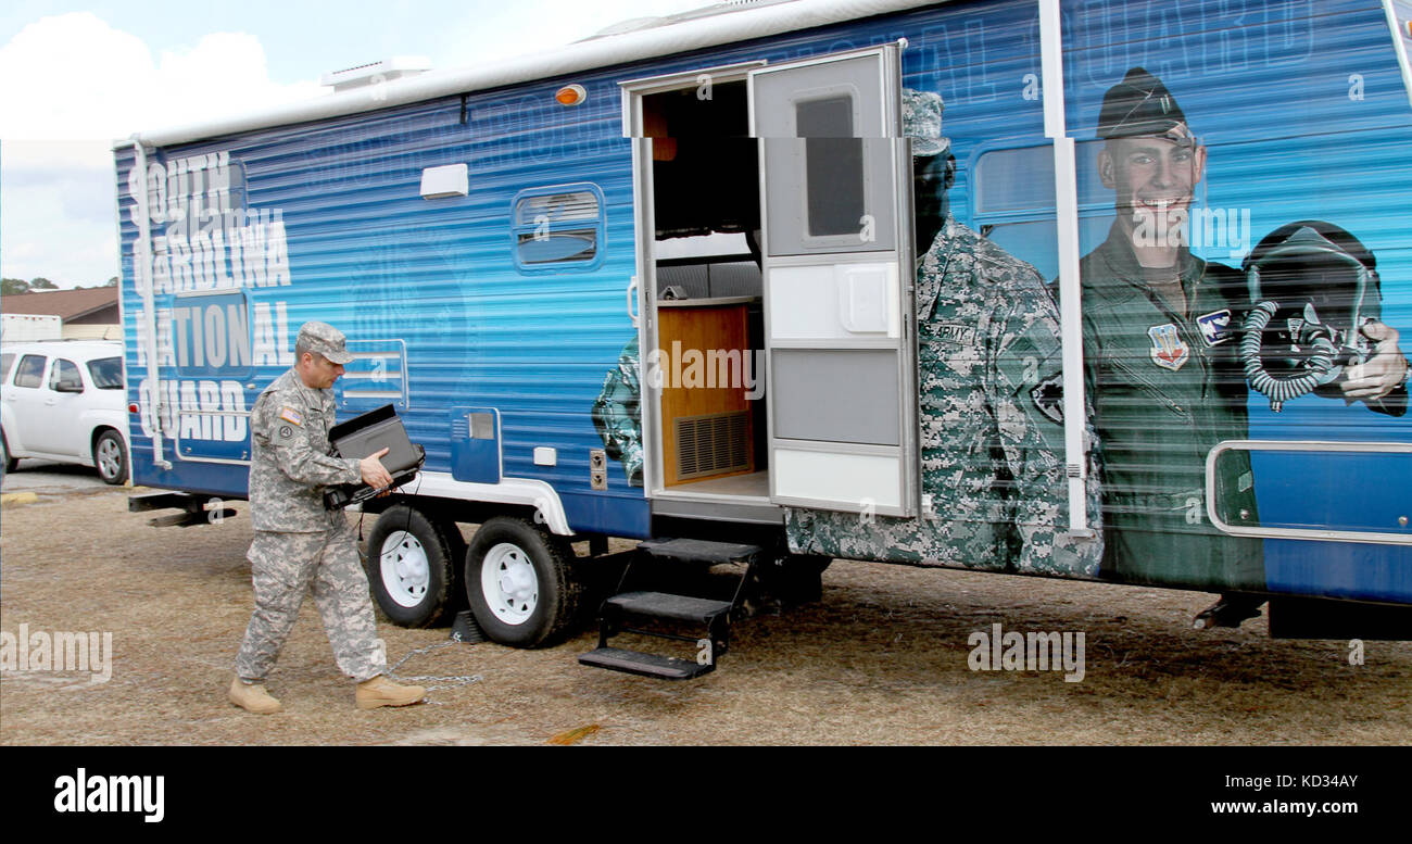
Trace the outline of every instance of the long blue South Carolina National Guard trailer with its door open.
<instances>
[{"instance_id":1,"label":"long blue South Carolina National Guard trailer with its door open","mask_svg":"<svg viewBox=\"0 0 1412 844\"><path fill-rule=\"evenodd\" d=\"M713 668L744 591L587 605L620 538L785 590L871 559L1406 638L1409 18L722 3L134 135L133 480L243 498L249 409L319 319L340 418L390 404L426 450L369 504L401 624L466 596L534 646L597 610L586 662ZM609 646L642 617L703 652Z\"/></svg>"}]
</instances>

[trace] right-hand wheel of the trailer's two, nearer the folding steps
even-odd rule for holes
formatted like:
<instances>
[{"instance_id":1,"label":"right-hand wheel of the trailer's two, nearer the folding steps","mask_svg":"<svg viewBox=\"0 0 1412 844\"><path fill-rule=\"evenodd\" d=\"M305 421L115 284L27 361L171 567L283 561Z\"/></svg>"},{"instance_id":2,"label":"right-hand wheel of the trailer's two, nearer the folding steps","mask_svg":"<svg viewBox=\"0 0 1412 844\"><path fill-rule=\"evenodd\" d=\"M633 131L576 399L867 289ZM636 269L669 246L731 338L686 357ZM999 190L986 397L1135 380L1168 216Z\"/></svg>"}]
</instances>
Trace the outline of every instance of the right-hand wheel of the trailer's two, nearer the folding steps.
<instances>
[{"instance_id":1,"label":"right-hand wheel of the trailer's two, nearer the folding steps","mask_svg":"<svg viewBox=\"0 0 1412 844\"><path fill-rule=\"evenodd\" d=\"M573 550L545 528L496 517L466 550L466 596L490 639L515 648L546 645L579 618L583 584Z\"/></svg>"}]
</instances>

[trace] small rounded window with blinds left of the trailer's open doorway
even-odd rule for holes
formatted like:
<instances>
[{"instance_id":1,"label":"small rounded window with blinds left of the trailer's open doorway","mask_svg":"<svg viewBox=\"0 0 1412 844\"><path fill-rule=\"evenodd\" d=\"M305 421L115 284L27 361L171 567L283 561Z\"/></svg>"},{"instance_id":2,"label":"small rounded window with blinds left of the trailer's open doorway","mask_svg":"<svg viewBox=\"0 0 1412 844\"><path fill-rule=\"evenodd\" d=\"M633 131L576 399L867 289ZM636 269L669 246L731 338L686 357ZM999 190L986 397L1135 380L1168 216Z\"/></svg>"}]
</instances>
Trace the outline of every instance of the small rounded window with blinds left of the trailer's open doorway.
<instances>
[{"instance_id":1,"label":"small rounded window with blinds left of the trailer's open doorway","mask_svg":"<svg viewBox=\"0 0 1412 844\"><path fill-rule=\"evenodd\" d=\"M537 188L515 196L513 230L520 270L596 265L603 241L597 185Z\"/></svg>"}]
</instances>

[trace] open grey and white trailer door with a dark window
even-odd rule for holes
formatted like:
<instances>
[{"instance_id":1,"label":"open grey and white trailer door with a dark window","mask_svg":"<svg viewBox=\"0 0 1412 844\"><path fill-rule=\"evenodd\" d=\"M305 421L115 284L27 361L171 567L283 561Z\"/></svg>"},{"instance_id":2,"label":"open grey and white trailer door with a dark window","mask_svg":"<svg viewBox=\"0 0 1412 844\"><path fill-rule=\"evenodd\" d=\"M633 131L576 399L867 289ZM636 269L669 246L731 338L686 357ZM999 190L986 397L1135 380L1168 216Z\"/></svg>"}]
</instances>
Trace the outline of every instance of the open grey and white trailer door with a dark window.
<instances>
[{"instance_id":1,"label":"open grey and white trailer door with a dark window","mask_svg":"<svg viewBox=\"0 0 1412 844\"><path fill-rule=\"evenodd\" d=\"M899 47L750 72L771 500L915 515L911 159Z\"/></svg>"}]
</instances>

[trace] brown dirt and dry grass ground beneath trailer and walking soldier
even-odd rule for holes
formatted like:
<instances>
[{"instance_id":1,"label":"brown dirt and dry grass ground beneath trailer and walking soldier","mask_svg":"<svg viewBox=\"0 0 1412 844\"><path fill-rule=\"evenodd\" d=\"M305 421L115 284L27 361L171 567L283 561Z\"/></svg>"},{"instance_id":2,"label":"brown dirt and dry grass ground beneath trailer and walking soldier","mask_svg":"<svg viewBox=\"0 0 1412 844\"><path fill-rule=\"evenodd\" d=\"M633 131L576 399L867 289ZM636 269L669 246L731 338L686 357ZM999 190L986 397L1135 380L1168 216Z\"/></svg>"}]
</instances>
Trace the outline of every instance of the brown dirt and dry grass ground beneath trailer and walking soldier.
<instances>
[{"instance_id":1,"label":"brown dirt and dry grass ground beneath trailer and walking soldier","mask_svg":"<svg viewBox=\"0 0 1412 844\"><path fill-rule=\"evenodd\" d=\"M666 683L542 651L448 644L380 620L428 701L357 711L312 601L257 717L225 690L250 617L250 521L150 528L123 490L0 512L0 627L109 631L112 679L6 672L3 744L1412 744L1412 645L1272 641L1265 620L1196 632L1213 596L834 562L823 600L734 629L720 668ZM353 517L356 518L356 517ZM371 529L371 518L364 531ZM969 638L1084 631L1082 682L971 670ZM683 653L683 655L689 655Z\"/></svg>"}]
</instances>

